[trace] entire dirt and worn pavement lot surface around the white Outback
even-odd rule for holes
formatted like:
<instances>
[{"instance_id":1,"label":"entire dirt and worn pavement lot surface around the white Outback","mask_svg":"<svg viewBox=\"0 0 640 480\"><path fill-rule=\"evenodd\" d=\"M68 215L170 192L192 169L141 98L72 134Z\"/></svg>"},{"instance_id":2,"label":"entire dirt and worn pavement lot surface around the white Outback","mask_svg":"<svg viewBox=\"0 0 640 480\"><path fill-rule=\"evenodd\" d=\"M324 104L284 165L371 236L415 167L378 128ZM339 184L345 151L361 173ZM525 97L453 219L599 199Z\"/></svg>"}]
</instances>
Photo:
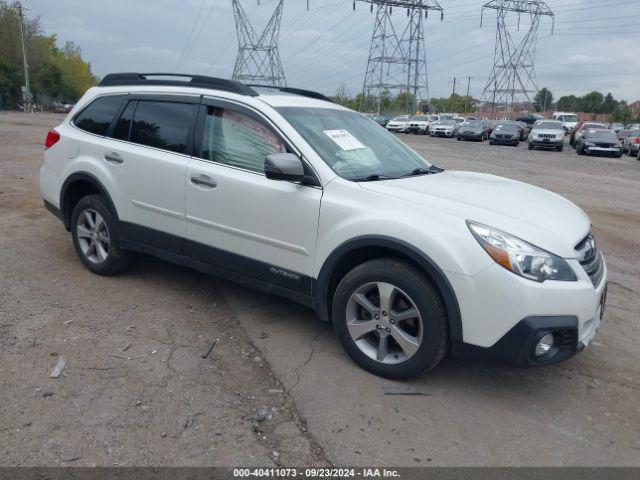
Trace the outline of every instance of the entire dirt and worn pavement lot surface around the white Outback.
<instances>
[{"instance_id":1,"label":"entire dirt and worn pavement lot surface around the white Outback","mask_svg":"<svg viewBox=\"0 0 640 480\"><path fill-rule=\"evenodd\" d=\"M394 382L353 365L330 326L287 300L147 257L118 277L86 271L38 191L59 119L0 114L3 465L640 465L635 159L401 136L444 168L576 202L611 283L604 328L569 362L448 359L407 382L429 396L385 396Z\"/></svg>"}]
</instances>

